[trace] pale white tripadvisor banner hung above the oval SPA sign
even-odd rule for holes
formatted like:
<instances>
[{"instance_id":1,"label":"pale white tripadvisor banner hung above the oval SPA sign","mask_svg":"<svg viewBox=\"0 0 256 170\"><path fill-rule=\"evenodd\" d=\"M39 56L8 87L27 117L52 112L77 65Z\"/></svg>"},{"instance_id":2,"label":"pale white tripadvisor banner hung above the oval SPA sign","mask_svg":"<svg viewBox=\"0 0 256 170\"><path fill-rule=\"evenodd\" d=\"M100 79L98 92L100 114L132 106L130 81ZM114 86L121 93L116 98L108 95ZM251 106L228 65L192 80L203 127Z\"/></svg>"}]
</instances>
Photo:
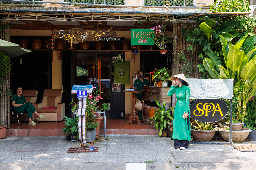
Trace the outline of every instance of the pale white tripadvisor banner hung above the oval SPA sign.
<instances>
[{"instance_id":1,"label":"pale white tripadvisor banner hung above the oval SPA sign","mask_svg":"<svg viewBox=\"0 0 256 170\"><path fill-rule=\"evenodd\" d=\"M189 99L218 99L233 97L233 79L187 79Z\"/></svg>"}]
</instances>

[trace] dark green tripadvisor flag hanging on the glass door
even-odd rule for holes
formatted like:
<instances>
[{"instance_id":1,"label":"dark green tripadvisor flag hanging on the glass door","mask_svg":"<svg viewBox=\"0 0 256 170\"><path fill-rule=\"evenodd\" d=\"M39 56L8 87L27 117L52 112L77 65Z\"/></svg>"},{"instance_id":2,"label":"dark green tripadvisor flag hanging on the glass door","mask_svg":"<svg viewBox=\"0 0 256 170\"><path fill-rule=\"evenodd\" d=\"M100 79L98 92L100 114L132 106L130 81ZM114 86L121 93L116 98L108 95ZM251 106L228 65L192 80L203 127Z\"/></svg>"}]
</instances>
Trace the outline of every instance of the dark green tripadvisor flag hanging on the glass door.
<instances>
[{"instance_id":1,"label":"dark green tripadvisor flag hanging on the glass door","mask_svg":"<svg viewBox=\"0 0 256 170\"><path fill-rule=\"evenodd\" d=\"M114 61L114 83L130 84L130 61Z\"/></svg>"}]
</instances>

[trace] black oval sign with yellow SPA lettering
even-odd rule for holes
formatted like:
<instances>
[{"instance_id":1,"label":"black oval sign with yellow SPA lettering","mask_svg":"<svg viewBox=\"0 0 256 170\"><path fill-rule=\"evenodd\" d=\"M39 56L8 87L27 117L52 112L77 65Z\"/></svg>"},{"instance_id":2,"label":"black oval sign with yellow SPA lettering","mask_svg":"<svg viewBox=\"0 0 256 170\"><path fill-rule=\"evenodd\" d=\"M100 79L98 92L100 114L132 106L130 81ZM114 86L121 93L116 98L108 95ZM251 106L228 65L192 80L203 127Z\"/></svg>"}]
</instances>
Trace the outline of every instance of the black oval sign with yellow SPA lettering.
<instances>
[{"instance_id":1,"label":"black oval sign with yellow SPA lettering","mask_svg":"<svg viewBox=\"0 0 256 170\"><path fill-rule=\"evenodd\" d=\"M221 99L196 99L189 103L190 116L199 122L218 122L228 114L228 105Z\"/></svg>"}]
</instances>

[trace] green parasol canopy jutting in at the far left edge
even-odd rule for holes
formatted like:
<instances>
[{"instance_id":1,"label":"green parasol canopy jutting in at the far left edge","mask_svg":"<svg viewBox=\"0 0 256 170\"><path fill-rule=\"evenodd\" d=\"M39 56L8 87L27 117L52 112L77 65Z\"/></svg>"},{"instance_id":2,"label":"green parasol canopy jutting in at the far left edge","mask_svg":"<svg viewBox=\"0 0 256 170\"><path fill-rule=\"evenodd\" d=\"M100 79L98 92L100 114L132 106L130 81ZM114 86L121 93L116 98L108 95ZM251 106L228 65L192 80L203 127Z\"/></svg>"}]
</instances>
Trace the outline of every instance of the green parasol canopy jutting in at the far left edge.
<instances>
[{"instance_id":1,"label":"green parasol canopy jutting in at the far left edge","mask_svg":"<svg viewBox=\"0 0 256 170\"><path fill-rule=\"evenodd\" d=\"M32 51L21 48L19 44L14 44L0 39L0 51L3 51L10 58L14 58L23 54L30 53Z\"/></svg>"}]
</instances>

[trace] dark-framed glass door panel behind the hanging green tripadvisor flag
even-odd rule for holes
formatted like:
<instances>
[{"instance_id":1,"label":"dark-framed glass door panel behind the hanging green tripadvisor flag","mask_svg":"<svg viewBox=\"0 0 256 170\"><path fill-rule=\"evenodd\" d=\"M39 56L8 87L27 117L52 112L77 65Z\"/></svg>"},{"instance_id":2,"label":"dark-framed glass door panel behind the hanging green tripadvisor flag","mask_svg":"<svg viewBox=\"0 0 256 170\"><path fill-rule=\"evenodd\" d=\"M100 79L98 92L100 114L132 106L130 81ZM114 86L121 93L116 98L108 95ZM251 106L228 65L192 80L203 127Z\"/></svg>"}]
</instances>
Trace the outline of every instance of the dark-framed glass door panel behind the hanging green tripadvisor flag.
<instances>
[{"instance_id":1,"label":"dark-framed glass door panel behind the hanging green tripadvisor flag","mask_svg":"<svg viewBox=\"0 0 256 170\"><path fill-rule=\"evenodd\" d=\"M114 60L123 61L124 54L122 52L110 53L111 58L111 72L110 72L110 118L125 118L125 89L123 84L117 84L114 80Z\"/></svg>"}]
</instances>

